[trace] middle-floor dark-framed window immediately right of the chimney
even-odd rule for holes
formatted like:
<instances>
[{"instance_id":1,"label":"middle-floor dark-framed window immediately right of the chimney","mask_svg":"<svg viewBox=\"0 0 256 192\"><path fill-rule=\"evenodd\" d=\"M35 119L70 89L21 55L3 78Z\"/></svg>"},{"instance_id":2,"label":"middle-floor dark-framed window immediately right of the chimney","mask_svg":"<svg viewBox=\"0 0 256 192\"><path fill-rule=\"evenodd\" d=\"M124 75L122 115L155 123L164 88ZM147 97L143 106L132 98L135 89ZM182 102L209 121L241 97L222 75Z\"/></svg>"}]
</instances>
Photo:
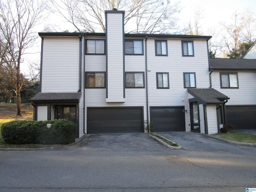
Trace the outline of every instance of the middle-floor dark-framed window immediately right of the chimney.
<instances>
[{"instance_id":1,"label":"middle-floor dark-framed window immediately right of the chimney","mask_svg":"<svg viewBox=\"0 0 256 192\"><path fill-rule=\"evenodd\" d=\"M144 72L126 72L126 88L144 88Z\"/></svg>"}]
</instances>

